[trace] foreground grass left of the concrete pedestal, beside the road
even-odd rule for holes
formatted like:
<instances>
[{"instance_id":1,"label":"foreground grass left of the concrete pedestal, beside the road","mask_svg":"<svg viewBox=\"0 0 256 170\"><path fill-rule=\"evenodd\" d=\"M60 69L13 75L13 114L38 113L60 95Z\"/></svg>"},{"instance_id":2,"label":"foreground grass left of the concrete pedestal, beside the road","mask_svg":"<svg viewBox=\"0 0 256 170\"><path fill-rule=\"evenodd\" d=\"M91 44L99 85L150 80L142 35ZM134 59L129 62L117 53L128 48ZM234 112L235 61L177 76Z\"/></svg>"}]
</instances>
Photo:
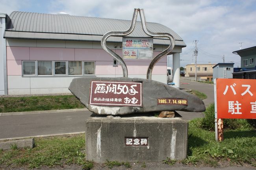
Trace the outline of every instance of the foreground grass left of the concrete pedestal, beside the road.
<instances>
[{"instance_id":1,"label":"foreground grass left of the concrete pedestal, beside the road","mask_svg":"<svg viewBox=\"0 0 256 170\"><path fill-rule=\"evenodd\" d=\"M13 149L0 152L0 169L6 167L40 168L56 165L82 165L90 169L93 162L85 161L85 136L35 138L35 148Z\"/></svg>"}]
</instances>

